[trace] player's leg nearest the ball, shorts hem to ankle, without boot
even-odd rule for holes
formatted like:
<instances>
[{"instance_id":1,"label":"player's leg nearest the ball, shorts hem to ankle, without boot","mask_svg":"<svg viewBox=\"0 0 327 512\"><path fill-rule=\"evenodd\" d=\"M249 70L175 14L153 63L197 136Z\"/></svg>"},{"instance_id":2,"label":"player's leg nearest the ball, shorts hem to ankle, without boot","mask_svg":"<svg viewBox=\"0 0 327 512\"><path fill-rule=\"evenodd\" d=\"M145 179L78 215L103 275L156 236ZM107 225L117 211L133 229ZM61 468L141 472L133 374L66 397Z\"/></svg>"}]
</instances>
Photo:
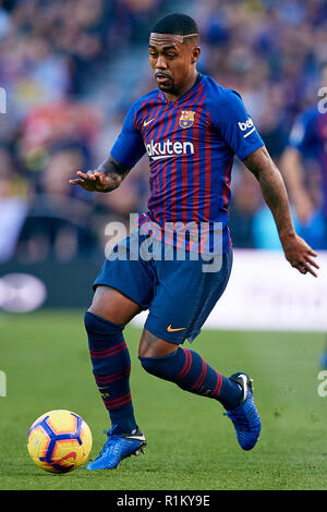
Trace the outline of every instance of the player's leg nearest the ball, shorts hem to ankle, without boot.
<instances>
[{"instance_id":1,"label":"player's leg nearest the ball, shorts hem to ankle, without boot","mask_svg":"<svg viewBox=\"0 0 327 512\"><path fill-rule=\"evenodd\" d=\"M137 428L130 390L131 358L124 326L141 307L118 290L97 287L85 313L93 374L116 432Z\"/></svg>"}]
</instances>

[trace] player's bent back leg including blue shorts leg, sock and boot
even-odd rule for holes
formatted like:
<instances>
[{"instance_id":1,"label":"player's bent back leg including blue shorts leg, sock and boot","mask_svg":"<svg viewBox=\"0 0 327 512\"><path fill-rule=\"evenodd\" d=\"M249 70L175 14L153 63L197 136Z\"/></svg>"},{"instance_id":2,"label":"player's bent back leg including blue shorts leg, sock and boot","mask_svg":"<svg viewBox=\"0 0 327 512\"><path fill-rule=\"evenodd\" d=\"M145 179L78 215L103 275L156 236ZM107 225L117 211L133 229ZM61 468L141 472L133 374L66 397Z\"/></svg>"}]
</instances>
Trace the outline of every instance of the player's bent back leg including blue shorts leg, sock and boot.
<instances>
[{"instance_id":1,"label":"player's bent back leg including blue shorts leg, sock and boot","mask_svg":"<svg viewBox=\"0 0 327 512\"><path fill-rule=\"evenodd\" d=\"M241 425L243 432L245 424L245 439L240 440L238 429L237 434L241 447L249 450L254 447L259 434L259 418L249 376L238 373L228 378L195 351L179 346L186 338L193 340L198 334L223 293L231 261L231 254L223 255L220 270L205 276L198 271L196 261L175 263L179 264L175 269L173 263L170 265L167 276L160 276L159 281L165 285L157 289L150 305L140 344L140 359L149 374L172 381L192 393L216 399L228 412L235 411L237 418L232 413L227 414L235 429ZM166 269L168 267L166 265Z\"/></svg>"}]
</instances>

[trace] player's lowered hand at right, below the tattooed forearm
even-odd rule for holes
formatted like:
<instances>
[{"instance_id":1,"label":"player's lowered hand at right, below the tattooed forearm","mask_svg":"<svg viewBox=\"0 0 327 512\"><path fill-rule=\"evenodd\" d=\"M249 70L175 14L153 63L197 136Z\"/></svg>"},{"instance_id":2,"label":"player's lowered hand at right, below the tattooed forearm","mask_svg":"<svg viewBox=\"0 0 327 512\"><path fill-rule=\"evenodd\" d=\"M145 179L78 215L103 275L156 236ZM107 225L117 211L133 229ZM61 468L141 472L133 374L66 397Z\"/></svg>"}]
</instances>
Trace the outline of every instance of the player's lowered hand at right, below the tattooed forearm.
<instances>
[{"instance_id":1,"label":"player's lowered hand at right, below the tattooed forearm","mask_svg":"<svg viewBox=\"0 0 327 512\"><path fill-rule=\"evenodd\" d=\"M290 265L301 273L312 273L315 278L317 273L313 267L318 269L319 266L313 259L317 256L307 243L298 234L288 236L281 241L284 256Z\"/></svg>"}]
</instances>

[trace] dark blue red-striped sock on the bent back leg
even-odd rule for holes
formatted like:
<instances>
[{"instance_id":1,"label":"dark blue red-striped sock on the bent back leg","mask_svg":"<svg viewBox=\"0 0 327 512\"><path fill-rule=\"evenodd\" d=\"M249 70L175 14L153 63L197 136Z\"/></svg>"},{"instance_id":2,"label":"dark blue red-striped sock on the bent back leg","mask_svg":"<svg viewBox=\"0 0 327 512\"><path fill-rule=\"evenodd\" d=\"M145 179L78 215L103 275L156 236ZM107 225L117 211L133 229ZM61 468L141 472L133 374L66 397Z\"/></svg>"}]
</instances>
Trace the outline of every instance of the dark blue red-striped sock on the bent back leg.
<instances>
[{"instance_id":1,"label":"dark blue red-striped sock on the bent back leg","mask_svg":"<svg viewBox=\"0 0 327 512\"><path fill-rule=\"evenodd\" d=\"M140 359L149 374L174 382L191 393L216 399L228 411L237 409L241 403L241 387L211 368L194 351L178 348L167 356Z\"/></svg>"}]
</instances>

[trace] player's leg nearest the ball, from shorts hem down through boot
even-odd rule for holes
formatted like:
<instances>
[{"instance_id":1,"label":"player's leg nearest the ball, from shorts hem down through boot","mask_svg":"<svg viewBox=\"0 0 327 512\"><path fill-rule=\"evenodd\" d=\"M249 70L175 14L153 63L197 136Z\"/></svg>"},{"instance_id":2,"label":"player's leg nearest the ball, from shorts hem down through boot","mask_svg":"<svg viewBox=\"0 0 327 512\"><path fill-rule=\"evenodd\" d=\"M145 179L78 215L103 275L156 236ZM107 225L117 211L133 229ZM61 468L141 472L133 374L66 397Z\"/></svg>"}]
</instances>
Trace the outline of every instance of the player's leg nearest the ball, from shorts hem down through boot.
<instances>
[{"instance_id":1,"label":"player's leg nearest the ball, from shorts hem down through boot","mask_svg":"<svg viewBox=\"0 0 327 512\"><path fill-rule=\"evenodd\" d=\"M110 287L96 289L85 314L93 373L111 419L100 455L88 470L110 470L146 446L138 428L130 389L131 358L123 338L124 326L142 308Z\"/></svg>"}]
</instances>

